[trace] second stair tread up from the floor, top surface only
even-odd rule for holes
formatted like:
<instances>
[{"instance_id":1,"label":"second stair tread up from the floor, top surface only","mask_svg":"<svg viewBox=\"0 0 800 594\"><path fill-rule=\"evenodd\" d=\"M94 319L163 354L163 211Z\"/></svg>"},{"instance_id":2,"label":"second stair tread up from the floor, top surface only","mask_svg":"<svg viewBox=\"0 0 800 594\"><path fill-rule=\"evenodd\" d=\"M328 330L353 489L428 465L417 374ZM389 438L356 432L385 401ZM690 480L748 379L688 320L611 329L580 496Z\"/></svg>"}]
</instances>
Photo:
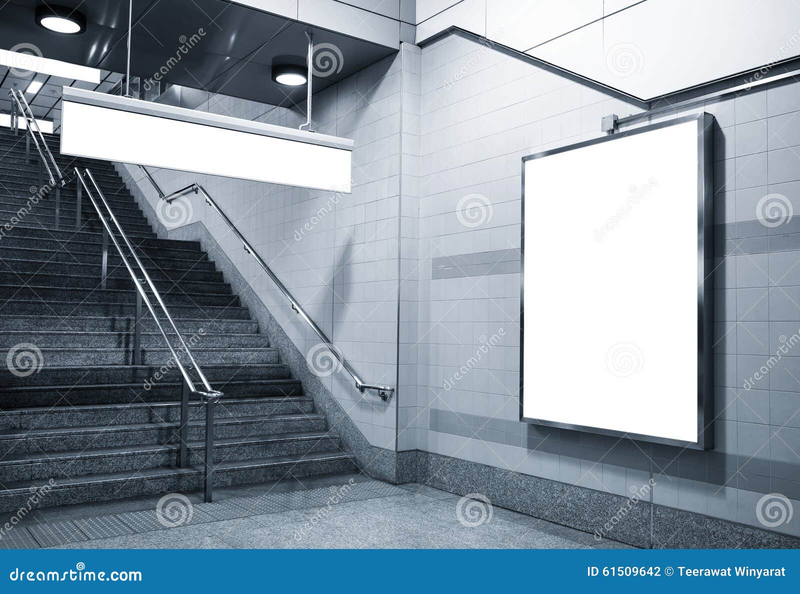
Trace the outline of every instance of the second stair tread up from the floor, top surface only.
<instances>
[{"instance_id":1,"label":"second stair tread up from the floor, top surface only","mask_svg":"<svg viewBox=\"0 0 800 594\"><path fill-rule=\"evenodd\" d=\"M286 433L265 433L259 435L248 435L242 437L216 437L214 447L235 448L238 445L261 444L261 443L280 443L283 441L314 441L318 439L335 439L338 433L325 431L290 431ZM190 440L186 442L186 447L190 449L205 448L206 442L203 440ZM41 462L58 462L61 460L86 460L98 457L110 456L135 456L138 454L169 452L177 450L178 444L142 444L142 445L122 445L116 447L102 448L81 448L68 449L59 452L34 452L16 455L2 456L0 468L3 466L14 466L17 464L38 464Z\"/></svg>"}]
</instances>

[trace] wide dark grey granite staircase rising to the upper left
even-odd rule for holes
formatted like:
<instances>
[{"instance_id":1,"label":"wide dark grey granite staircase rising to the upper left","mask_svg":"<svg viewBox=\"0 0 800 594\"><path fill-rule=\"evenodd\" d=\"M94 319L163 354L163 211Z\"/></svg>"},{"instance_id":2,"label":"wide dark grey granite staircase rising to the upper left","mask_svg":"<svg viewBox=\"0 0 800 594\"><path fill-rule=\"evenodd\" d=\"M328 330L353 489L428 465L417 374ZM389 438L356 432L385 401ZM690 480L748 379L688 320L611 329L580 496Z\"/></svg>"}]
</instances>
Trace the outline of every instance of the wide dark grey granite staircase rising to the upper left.
<instances>
[{"instance_id":1,"label":"wide dark grey granite staircase rising to the upper left","mask_svg":"<svg viewBox=\"0 0 800 594\"><path fill-rule=\"evenodd\" d=\"M195 339L212 388L225 394L214 486L354 470L199 243L158 239L113 165L62 156L58 136L46 139L62 171L91 169L178 328ZM83 197L79 231L74 181L61 190L60 229L54 192L19 216L38 163L26 163L22 132L7 129L0 156L0 512L32 499L53 507L199 490L203 409L191 403L190 468L178 468L178 369L162 367L170 352L146 313L142 365L132 365L134 285L110 242L100 289L102 226L90 202Z\"/></svg>"}]
</instances>

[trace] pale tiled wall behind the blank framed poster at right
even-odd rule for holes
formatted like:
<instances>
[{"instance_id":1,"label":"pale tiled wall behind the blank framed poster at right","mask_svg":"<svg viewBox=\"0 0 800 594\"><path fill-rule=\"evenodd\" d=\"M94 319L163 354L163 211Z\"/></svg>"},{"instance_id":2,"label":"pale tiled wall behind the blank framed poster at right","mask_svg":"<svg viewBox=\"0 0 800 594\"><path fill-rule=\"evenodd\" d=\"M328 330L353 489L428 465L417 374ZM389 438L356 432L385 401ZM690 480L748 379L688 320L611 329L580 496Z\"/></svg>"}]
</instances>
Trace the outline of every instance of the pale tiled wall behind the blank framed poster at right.
<instances>
[{"instance_id":1,"label":"pale tiled wall behind the blank framed poster at right","mask_svg":"<svg viewBox=\"0 0 800 594\"><path fill-rule=\"evenodd\" d=\"M643 492L655 503L758 527L767 493L800 509L800 351L743 389L800 328L800 84L664 116L705 110L717 122L710 452L518 421L521 157L596 138L603 115L638 108L454 34L422 49L421 109L418 406L400 442L410 431L420 449L623 496L652 471ZM767 193L798 217L758 221ZM554 201L542 224L568 219ZM774 529L800 535L796 520Z\"/></svg>"}]
</instances>

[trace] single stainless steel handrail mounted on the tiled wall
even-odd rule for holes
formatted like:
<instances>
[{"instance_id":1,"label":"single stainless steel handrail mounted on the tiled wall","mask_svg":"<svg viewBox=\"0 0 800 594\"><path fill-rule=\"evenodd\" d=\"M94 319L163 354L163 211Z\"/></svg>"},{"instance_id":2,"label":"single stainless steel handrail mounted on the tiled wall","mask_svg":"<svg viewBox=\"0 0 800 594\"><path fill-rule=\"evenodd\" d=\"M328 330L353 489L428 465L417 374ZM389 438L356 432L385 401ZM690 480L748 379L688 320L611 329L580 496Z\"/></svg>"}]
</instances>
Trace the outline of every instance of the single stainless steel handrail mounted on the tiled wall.
<instances>
[{"instance_id":1,"label":"single stainless steel handrail mounted on the tiled wall","mask_svg":"<svg viewBox=\"0 0 800 594\"><path fill-rule=\"evenodd\" d=\"M361 377L358 375L355 369L353 369L350 363L348 363L346 359L342 356L342 353L339 352L339 349L337 349L334 346L334 344L328 339L328 337L326 337L326 334L322 332L322 329L318 325L316 325L314 320L312 320L311 317L306 313L306 311L302 309L302 306L292 296L292 294L289 292L289 289L286 289L286 286L283 285L283 283L277 276L275 276L275 273L273 273L270 267L266 265L266 262L262 259L262 257L259 256L258 253L256 253L255 249L253 249L253 246L250 245L250 242L245 239L242 233L239 233L239 230L236 228L236 225L234 225L233 222L230 221L230 218L228 218L227 215L222 212L222 209L220 209L217 203L214 202L214 199L208 195L206 190L202 188L202 185L199 185L198 183L194 182L190 185L187 185L185 188L178 189L165 196L164 193L162 192L162 189L158 187L158 184L155 183L153 177L150 175L147 169L145 169L145 167L143 167L142 165L139 165L139 168L142 169L142 171L146 174L147 178L150 180L150 182L153 184L153 187L158 192L159 197L161 197L161 199L164 201L171 202L175 198L183 196L187 193L202 193L202 196L206 200L206 204L210 205L210 207L213 208L214 211L220 217L222 217L222 220L226 222L230 230L233 231L234 235L236 235L238 240L242 242L242 247L244 247L245 251L255 258L255 260L262 267L267 276L270 277L272 281L275 283L275 285L278 287L278 290L280 290L280 292L283 293L283 296L286 297L286 299L289 301L292 309L294 309L294 311L298 313L304 321L306 321L306 324L310 325L311 329L314 330L314 333L316 333L319 339L325 343L330 353L332 353L334 357L336 357L336 359L339 361L339 363L342 364L342 368L345 369L345 371L350 374L350 377L352 377L353 380L355 381L355 387L358 388L358 391L364 393L365 390L375 390L376 392L378 392L378 396L381 397L382 400L384 401L389 400L390 395L394 393L394 386L367 384L361 379Z\"/></svg>"}]
</instances>

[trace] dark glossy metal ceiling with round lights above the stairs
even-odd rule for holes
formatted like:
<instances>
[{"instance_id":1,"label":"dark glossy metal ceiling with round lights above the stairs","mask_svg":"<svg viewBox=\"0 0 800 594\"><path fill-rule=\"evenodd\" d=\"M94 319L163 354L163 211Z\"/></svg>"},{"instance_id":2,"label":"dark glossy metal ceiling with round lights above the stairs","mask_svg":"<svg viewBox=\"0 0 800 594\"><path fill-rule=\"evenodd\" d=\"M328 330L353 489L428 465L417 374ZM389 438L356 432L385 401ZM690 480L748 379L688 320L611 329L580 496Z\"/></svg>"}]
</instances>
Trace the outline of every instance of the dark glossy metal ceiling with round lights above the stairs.
<instances>
[{"instance_id":1,"label":"dark glossy metal ceiling with round lights above the stairs","mask_svg":"<svg viewBox=\"0 0 800 594\"><path fill-rule=\"evenodd\" d=\"M87 83L35 73L15 78L0 66L0 110L10 109L6 101L10 87L27 86L35 79L44 86L27 97L34 114L58 121L61 86L105 92L119 81L116 73L125 72L128 2L58 0L63 6L78 7L86 16L86 33L80 35L56 34L37 26L34 10L40 3L10 0L0 7L0 47L10 50L32 44L45 58L102 69L103 82L95 89ZM305 100L305 86L280 86L271 79L274 58L297 56L305 63L305 30L314 33L315 45L331 44L342 56L341 70L314 78L314 93L396 51L225 0L134 0L133 21L132 76L152 78L160 72L162 81L174 85L270 105ZM191 47L184 53L181 46Z\"/></svg>"}]
</instances>

